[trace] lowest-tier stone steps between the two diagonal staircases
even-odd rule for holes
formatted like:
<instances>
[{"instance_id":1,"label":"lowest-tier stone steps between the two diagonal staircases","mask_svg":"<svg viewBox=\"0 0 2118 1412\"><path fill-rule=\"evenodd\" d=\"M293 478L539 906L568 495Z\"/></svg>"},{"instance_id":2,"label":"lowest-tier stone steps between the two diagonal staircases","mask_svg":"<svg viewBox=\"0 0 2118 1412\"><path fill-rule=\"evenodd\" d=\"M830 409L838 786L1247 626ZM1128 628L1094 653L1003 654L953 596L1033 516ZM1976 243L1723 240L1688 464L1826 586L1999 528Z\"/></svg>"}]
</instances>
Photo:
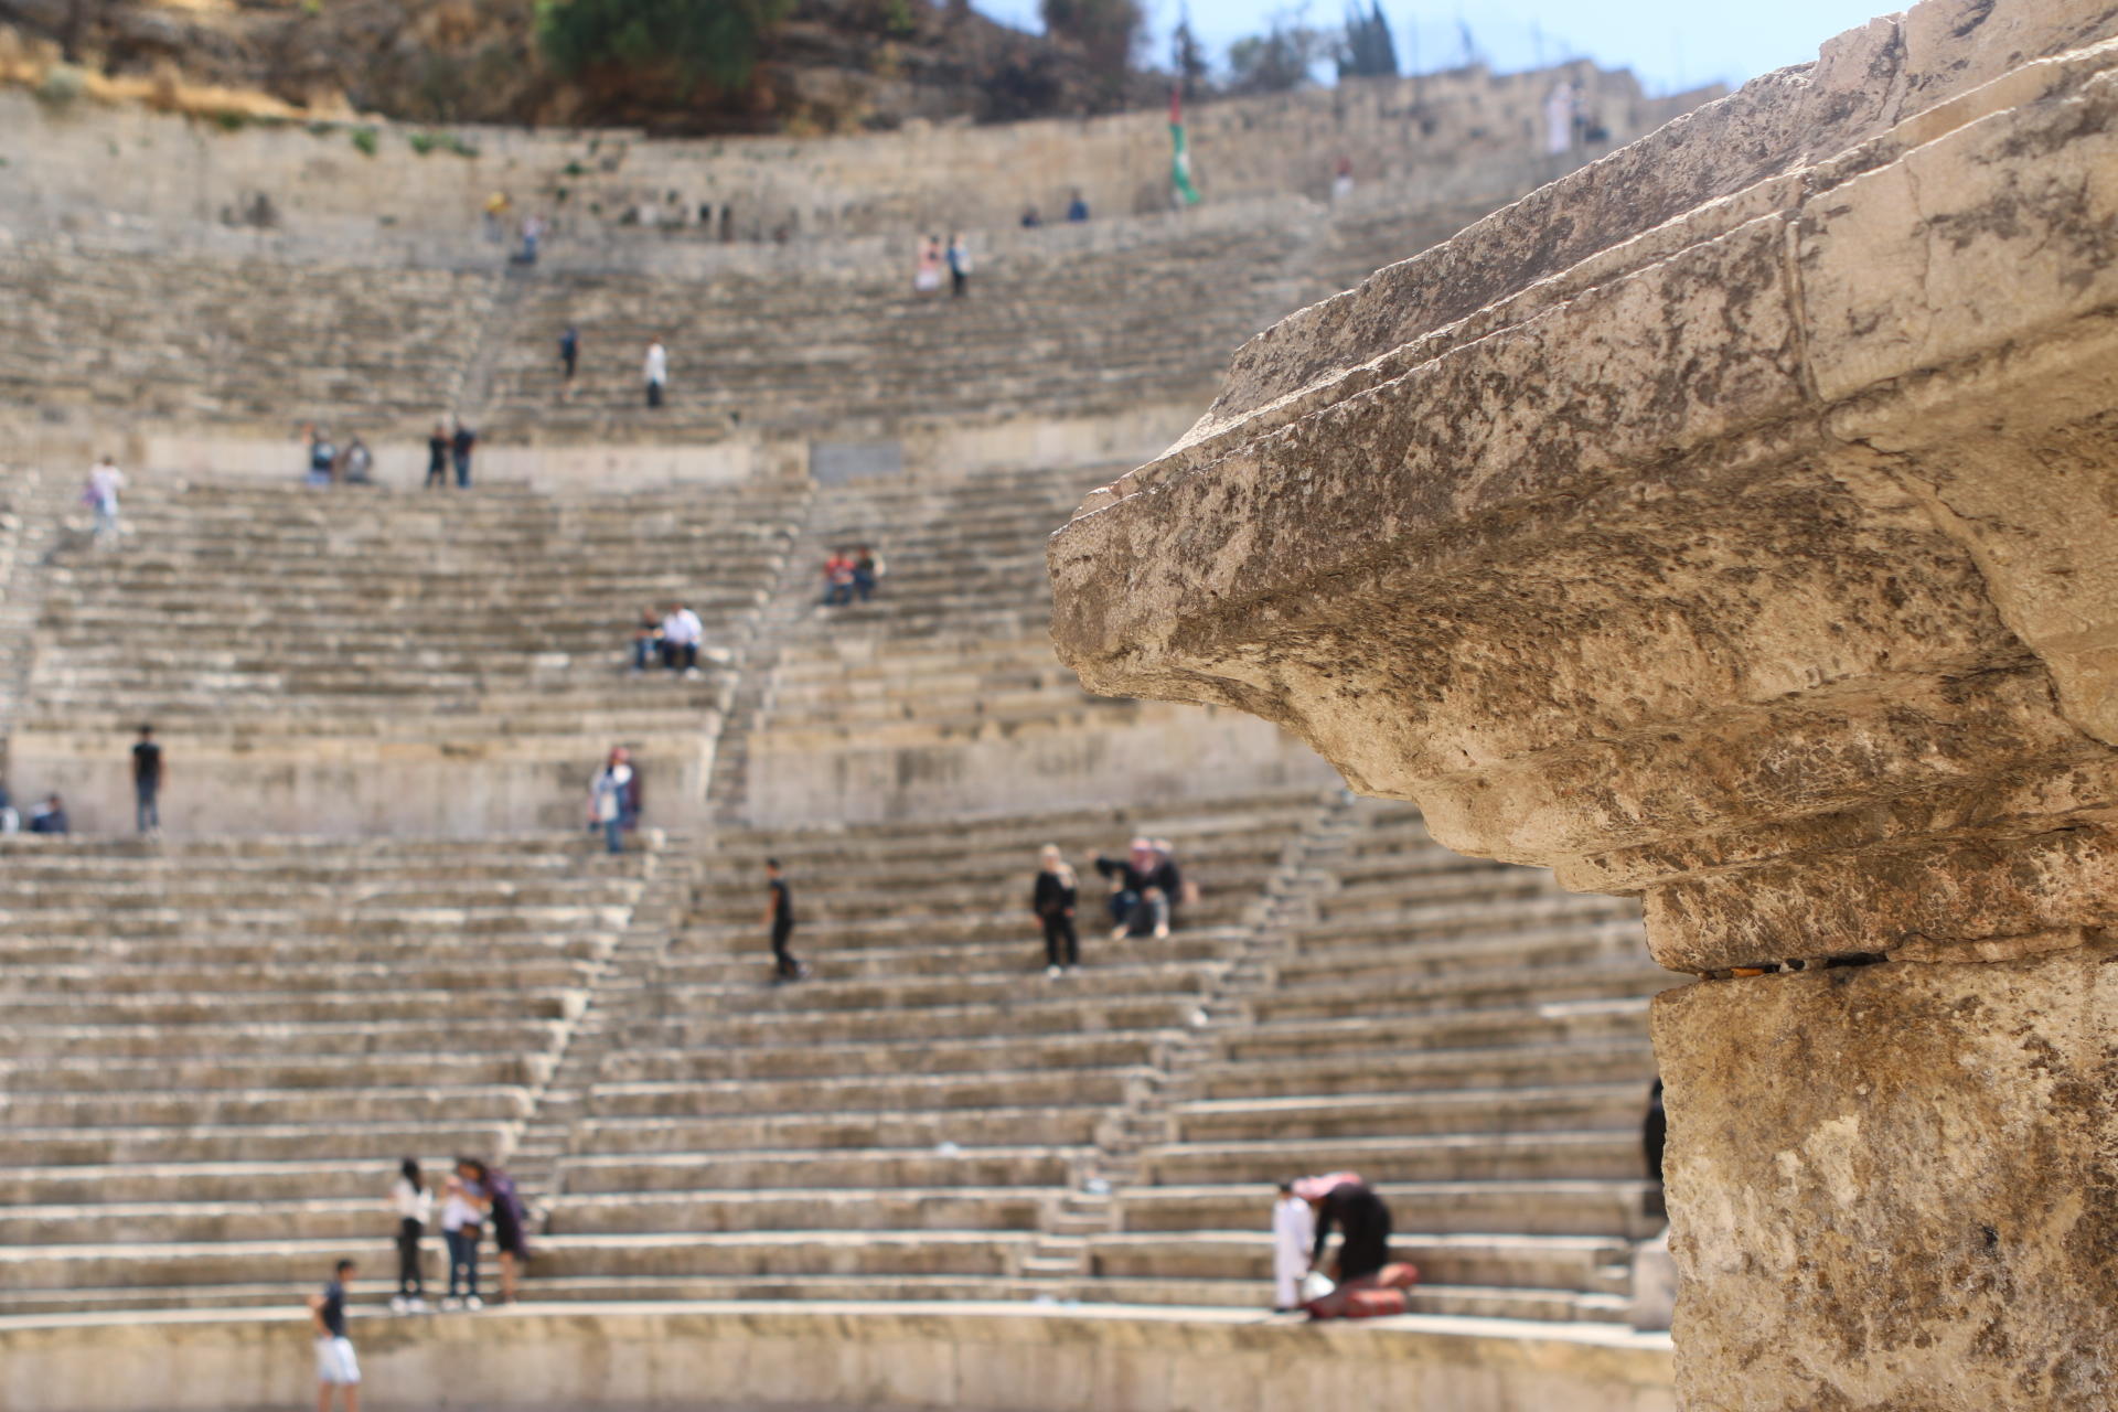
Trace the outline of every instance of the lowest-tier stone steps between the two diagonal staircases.
<instances>
[{"instance_id":1,"label":"lowest-tier stone steps between the two diagonal staircases","mask_svg":"<svg viewBox=\"0 0 2118 1412\"><path fill-rule=\"evenodd\" d=\"M570 1287L669 1289L720 1274L707 1262L731 1251L769 1262L758 1274L788 1296L923 1274L981 1277L993 1298L1029 1277L1101 1130L1205 1018L1288 836L1313 815L1313 796L1267 796L722 832L561 1164L551 1228L580 1241ZM1197 870L1201 902L1163 942L1110 942L1091 870L1084 965L1046 978L1027 906L1038 847L1059 843L1087 868L1142 830ZM790 986L767 984L752 921L767 855L788 870L794 951L813 967ZM654 1232L667 1230L695 1241L663 1253ZM913 1270L921 1241L934 1264Z\"/></svg>"}]
</instances>

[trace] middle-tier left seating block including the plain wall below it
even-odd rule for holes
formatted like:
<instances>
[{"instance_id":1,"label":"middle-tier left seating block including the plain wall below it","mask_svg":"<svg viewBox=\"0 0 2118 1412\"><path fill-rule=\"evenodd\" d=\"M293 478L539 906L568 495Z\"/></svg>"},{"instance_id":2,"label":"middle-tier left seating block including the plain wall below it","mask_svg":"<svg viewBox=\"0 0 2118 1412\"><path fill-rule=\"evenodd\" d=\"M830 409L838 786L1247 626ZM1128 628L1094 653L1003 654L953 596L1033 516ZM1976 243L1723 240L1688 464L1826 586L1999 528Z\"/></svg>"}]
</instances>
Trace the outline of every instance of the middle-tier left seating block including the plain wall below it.
<instances>
[{"instance_id":1,"label":"middle-tier left seating block including the plain wall below it","mask_svg":"<svg viewBox=\"0 0 2118 1412\"><path fill-rule=\"evenodd\" d=\"M657 821L682 823L733 673L631 680L631 627L684 597L710 644L739 639L803 493L142 476L125 544L78 538L47 572L15 783L114 826L127 735L152 720L189 834L515 832L574 823L627 743Z\"/></svg>"}]
</instances>

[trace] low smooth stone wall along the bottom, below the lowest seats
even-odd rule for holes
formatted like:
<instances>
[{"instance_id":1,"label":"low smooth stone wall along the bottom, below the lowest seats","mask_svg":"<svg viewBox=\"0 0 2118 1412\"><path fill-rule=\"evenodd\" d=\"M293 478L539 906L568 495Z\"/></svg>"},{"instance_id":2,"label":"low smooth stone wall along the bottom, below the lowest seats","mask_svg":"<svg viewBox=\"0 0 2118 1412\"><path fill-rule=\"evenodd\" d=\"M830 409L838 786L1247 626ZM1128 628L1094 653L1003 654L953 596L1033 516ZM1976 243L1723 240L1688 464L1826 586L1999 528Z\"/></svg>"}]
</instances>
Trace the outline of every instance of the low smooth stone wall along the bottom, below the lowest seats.
<instances>
[{"instance_id":1,"label":"low smooth stone wall along the bottom, below the lowest seats","mask_svg":"<svg viewBox=\"0 0 2118 1412\"><path fill-rule=\"evenodd\" d=\"M1248 1310L530 1304L466 1319L356 1317L352 1336L362 1391L388 1408L1673 1408L1667 1338L1497 1319L1320 1329ZM299 1310L0 1319L0 1401L13 1412L301 1406L311 1363Z\"/></svg>"}]
</instances>

